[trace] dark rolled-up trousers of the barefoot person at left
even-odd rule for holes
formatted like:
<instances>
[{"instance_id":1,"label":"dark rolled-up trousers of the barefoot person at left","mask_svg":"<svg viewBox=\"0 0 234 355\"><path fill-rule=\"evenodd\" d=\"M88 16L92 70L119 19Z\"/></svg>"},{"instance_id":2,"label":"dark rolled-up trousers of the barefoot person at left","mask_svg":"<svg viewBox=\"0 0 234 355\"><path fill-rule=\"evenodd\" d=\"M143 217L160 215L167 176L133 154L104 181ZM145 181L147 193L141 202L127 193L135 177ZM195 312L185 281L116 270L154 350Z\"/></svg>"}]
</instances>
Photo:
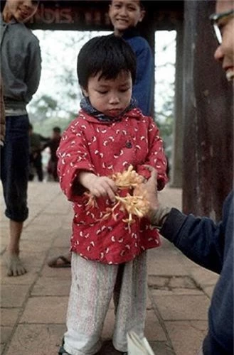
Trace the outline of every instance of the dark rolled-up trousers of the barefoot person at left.
<instances>
[{"instance_id":1,"label":"dark rolled-up trousers of the barefoot person at left","mask_svg":"<svg viewBox=\"0 0 234 355\"><path fill-rule=\"evenodd\" d=\"M28 115L6 116L6 137L4 147L1 147L5 214L16 222L23 222L28 218L28 124Z\"/></svg>"}]
</instances>

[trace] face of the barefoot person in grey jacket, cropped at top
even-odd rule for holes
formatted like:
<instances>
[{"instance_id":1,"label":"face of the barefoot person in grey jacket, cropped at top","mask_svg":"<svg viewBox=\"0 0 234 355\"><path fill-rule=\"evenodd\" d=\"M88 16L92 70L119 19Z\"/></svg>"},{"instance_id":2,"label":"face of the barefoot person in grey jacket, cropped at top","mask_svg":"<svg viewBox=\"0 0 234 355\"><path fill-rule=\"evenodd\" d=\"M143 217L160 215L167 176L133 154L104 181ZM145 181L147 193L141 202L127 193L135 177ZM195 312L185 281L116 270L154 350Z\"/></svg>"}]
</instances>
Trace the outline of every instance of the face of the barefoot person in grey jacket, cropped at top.
<instances>
[{"instance_id":1,"label":"face of the barefoot person in grey jacket, cropped at top","mask_svg":"<svg viewBox=\"0 0 234 355\"><path fill-rule=\"evenodd\" d=\"M33 0L7 0L4 8L4 17L8 21L15 18L18 22L26 22L38 8L38 1Z\"/></svg>"}]
</instances>

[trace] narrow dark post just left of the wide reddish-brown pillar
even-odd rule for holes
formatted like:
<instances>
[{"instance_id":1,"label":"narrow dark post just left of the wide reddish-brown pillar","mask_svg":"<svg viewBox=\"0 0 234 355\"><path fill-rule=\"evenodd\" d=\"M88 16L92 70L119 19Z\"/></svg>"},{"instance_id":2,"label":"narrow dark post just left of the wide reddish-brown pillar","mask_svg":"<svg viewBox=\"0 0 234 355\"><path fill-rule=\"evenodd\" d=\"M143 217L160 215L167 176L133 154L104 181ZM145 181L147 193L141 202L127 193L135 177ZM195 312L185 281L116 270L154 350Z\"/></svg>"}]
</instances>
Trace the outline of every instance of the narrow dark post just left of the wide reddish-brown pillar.
<instances>
[{"instance_id":1,"label":"narrow dark post just left of the wide reddish-brown pillar","mask_svg":"<svg viewBox=\"0 0 234 355\"><path fill-rule=\"evenodd\" d=\"M176 27L176 77L175 77L175 98L174 98L174 132L171 165L171 187L182 187L183 168L183 24Z\"/></svg>"}]
</instances>

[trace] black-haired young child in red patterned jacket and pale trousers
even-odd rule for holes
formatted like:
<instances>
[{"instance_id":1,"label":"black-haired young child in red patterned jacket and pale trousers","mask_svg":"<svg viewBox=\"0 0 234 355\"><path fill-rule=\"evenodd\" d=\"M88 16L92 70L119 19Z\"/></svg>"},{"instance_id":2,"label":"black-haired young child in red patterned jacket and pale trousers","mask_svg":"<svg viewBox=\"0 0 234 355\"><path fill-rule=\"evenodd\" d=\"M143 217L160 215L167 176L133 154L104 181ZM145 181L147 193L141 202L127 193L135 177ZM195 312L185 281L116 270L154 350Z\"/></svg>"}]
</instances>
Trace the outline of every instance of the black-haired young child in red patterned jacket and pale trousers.
<instances>
[{"instance_id":1,"label":"black-haired young child in red patterned jacket and pale trousers","mask_svg":"<svg viewBox=\"0 0 234 355\"><path fill-rule=\"evenodd\" d=\"M123 221L127 214L120 210L116 219L102 219L115 202L112 173L133 165L148 178L148 164L157 170L159 190L167 181L159 129L132 99L135 76L134 53L122 38L92 38L80 50L78 80L84 98L58 148L60 186L74 209L68 330L59 354L98 354L112 296L115 349L127 351L129 329L139 336L144 332L146 250L160 245L159 233L144 218L129 229ZM87 209L85 192L96 197L92 209Z\"/></svg>"}]
</instances>

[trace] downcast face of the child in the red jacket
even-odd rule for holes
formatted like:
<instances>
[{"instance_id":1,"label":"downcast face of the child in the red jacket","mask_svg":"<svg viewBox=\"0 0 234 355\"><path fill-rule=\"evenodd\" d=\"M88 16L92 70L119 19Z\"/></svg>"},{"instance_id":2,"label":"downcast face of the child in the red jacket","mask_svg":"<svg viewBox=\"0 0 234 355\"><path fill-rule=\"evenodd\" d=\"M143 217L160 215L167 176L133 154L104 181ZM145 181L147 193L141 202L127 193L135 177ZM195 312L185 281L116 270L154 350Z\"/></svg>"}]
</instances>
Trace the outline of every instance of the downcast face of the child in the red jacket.
<instances>
[{"instance_id":1,"label":"downcast face of the child in the red jacket","mask_svg":"<svg viewBox=\"0 0 234 355\"><path fill-rule=\"evenodd\" d=\"M90 77L85 97L92 107L107 116L119 116L129 106L132 97L132 76L130 72L120 72L116 79L100 79L100 72Z\"/></svg>"}]
</instances>

